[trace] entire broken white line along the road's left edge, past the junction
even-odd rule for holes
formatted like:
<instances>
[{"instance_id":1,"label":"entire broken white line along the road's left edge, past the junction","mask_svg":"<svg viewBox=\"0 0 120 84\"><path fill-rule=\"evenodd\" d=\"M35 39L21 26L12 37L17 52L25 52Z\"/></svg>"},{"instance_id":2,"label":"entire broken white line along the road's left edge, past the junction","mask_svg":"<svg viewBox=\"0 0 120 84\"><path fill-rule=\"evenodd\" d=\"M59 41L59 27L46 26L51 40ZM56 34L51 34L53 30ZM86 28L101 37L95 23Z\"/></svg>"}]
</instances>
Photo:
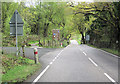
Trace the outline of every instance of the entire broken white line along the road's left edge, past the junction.
<instances>
[{"instance_id":1,"label":"entire broken white line along the road's left edge, past the junction","mask_svg":"<svg viewBox=\"0 0 120 84\"><path fill-rule=\"evenodd\" d=\"M68 47L68 46L67 46ZM66 48L67 48L66 47ZM65 49L65 48L64 48ZM33 81L33 83L32 84L35 84L41 77L42 77L42 75L48 70L48 68L50 67L50 65L52 65L53 64L53 62L55 61L55 59L57 59L57 57L59 57L59 55L64 51L64 49L63 50L61 50L61 52L60 53L58 53L58 55L52 60L52 62L50 62L50 64L39 74L39 76Z\"/></svg>"}]
</instances>

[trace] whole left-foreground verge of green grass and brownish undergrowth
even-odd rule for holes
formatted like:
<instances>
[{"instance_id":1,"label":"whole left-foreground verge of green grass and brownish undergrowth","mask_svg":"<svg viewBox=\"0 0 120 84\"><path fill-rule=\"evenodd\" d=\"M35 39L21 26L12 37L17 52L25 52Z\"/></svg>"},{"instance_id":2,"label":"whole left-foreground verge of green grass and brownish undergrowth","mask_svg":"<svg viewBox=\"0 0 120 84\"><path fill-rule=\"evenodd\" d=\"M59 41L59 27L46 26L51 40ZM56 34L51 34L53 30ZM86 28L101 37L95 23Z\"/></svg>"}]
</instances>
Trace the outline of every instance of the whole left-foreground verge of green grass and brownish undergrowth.
<instances>
[{"instance_id":1,"label":"whole left-foreground verge of green grass and brownish undergrowth","mask_svg":"<svg viewBox=\"0 0 120 84\"><path fill-rule=\"evenodd\" d=\"M4 54L2 56L2 82L23 82L41 68L34 60Z\"/></svg>"}]
</instances>

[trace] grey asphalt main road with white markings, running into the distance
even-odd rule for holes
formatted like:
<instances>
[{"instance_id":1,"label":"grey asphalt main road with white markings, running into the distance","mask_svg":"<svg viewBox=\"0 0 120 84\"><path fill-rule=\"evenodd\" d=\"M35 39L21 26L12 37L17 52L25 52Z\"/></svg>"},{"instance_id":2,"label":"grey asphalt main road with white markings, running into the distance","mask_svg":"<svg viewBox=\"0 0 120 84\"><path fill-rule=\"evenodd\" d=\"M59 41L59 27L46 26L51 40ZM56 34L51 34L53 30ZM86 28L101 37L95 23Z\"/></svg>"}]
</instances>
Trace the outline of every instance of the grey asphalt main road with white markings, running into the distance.
<instances>
[{"instance_id":1,"label":"grey asphalt main road with white markings, running into the distance","mask_svg":"<svg viewBox=\"0 0 120 84\"><path fill-rule=\"evenodd\" d=\"M119 58L72 42L64 49L40 57L42 70L27 82L118 82Z\"/></svg>"}]
</instances>

